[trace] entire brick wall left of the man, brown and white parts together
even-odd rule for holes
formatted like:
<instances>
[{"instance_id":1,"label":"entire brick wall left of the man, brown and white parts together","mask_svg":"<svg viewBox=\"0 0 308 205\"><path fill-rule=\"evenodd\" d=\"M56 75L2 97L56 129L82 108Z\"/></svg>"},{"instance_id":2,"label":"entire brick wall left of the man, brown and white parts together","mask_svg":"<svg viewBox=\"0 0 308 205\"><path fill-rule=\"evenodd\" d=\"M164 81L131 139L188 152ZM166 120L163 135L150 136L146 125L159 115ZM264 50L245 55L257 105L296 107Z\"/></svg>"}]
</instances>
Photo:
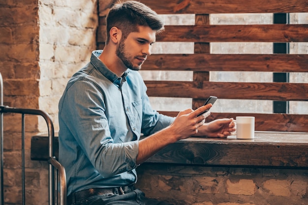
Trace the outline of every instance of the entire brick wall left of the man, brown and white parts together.
<instances>
[{"instance_id":1,"label":"entire brick wall left of the man, brown and white parts together","mask_svg":"<svg viewBox=\"0 0 308 205\"><path fill-rule=\"evenodd\" d=\"M95 49L96 0L1 0L0 72L4 105L41 109L58 125L58 102L71 75ZM21 204L21 115L4 114L4 202ZM47 162L31 161L42 117L25 118L26 204L48 204Z\"/></svg>"}]
</instances>

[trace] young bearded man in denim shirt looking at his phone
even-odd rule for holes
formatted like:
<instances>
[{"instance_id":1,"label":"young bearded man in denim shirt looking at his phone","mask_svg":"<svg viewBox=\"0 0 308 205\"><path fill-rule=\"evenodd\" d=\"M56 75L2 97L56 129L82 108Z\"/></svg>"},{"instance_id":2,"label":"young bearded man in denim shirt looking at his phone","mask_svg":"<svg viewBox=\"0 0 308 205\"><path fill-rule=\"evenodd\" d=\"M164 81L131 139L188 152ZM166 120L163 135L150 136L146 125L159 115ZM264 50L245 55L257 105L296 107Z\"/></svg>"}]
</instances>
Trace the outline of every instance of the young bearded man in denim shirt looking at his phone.
<instances>
[{"instance_id":1,"label":"young bearded man in denim shirt looking at his phone","mask_svg":"<svg viewBox=\"0 0 308 205\"><path fill-rule=\"evenodd\" d=\"M135 189L135 168L168 144L190 136L227 137L232 119L204 124L212 106L186 109L176 118L149 103L138 70L163 29L146 5L114 5L103 51L74 74L59 103L59 160L66 169L67 204L167 205ZM140 134L147 135L139 140Z\"/></svg>"}]
</instances>

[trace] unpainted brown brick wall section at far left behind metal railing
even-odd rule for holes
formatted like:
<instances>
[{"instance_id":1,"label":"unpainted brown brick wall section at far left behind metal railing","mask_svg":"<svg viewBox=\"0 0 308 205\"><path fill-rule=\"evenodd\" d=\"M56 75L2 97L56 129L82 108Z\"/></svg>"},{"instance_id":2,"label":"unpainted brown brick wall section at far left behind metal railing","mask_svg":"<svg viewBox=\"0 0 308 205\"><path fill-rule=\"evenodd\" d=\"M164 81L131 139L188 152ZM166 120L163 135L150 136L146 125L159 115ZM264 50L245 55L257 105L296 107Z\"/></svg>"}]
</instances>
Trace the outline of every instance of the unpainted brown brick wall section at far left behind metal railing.
<instances>
[{"instance_id":1,"label":"unpainted brown brick wall section at far left behind metal railing","mask_svg":"<svg viewBox=\"0 0 308 205\"><path fill-rule=\"evenodd\" d=\"M3 76L4 104L14 107L38 108L40 78L38 66L39 27L38 5L35 1L1 1L0 5L0 72ZM21 116L4 115L4 202L21 204ZM37 118L28 117L26 144L29 150L29 130L37 131ZM18 123L15 123L18 122ZM29 156L27 152L27 157ZM29 160L28 160L29 161ZM27 195L33 200L35 188L43 179L39 170L27 163ZM41 192L43 196L46 191ZM44 201L46 199L43 198ZM31 203L32 204L32 203Z\"/></svg>"}]
</instances>

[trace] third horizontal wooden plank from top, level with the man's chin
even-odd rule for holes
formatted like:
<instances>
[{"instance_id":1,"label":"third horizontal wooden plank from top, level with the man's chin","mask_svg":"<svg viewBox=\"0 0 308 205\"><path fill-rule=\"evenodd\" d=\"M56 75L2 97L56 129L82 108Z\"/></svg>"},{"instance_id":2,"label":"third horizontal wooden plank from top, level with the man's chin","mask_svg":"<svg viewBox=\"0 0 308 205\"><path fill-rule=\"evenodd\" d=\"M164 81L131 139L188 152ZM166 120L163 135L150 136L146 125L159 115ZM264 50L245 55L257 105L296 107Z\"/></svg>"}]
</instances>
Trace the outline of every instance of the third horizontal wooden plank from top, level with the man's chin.
<instances>
[{"instance_id":1,"label":"third horizontal wooden plank from top, level with the man's chin","mask_svg":"<svg viewBox=\"0 0 308 205\"><path fill-rule=\"evenodd\" d=\"M142 70L308 72L308 55L153 54Z\"/></svg>"}]
</instances>

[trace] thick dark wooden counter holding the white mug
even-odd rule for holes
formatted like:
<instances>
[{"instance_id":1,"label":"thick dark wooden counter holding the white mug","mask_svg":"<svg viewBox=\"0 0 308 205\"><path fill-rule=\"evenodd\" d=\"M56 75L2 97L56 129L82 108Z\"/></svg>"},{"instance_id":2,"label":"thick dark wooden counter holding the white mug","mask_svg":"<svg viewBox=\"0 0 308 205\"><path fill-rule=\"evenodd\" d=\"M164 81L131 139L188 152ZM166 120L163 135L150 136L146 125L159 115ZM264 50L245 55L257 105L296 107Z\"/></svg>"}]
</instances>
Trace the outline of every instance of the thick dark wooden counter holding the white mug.
<instances>
[{"instance_id":1,"label":"thick dark wooden counter holding the white mug","mask_svg":"<svg viewBox=\"0 0 308 205\"><path fill-rule=\"evenodd\" d=\"M58 137L54 146L58 157ZM33 136L31 159L47 156L48 137ZM168 145L146 162L308 169L308 133L256 131L252 140L191 137Z\"/></svg>"}]
</instances>

